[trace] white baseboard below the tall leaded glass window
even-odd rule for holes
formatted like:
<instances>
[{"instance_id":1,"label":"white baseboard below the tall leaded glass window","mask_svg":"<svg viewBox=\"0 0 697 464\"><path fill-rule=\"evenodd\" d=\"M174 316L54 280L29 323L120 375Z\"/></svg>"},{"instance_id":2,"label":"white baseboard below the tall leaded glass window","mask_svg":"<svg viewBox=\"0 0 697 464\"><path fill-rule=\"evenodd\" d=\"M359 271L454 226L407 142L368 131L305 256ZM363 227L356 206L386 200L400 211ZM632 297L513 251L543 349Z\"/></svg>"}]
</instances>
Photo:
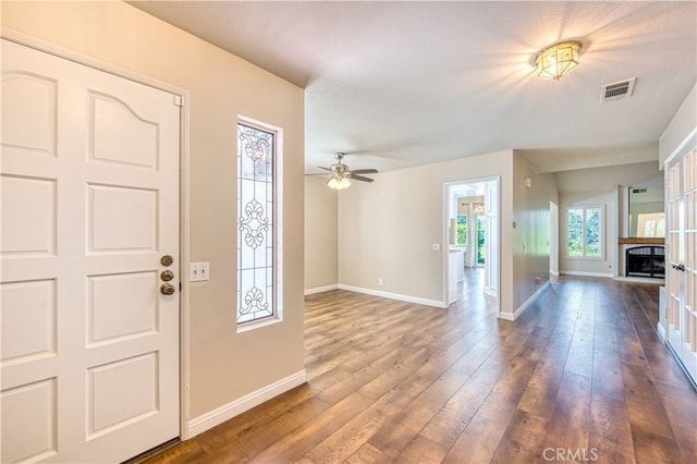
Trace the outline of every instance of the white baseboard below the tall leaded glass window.
<instances>
[{"instance_id":1,"label":"white baseboard below the tall leaded glass window","mask_svg":"<svg viewBox=\"0 0 697 464\"><path fill-rule=\"evenodd\" d=\"M217 407L206 414L201 414L198 417L194 417L188 420L186 424L186 430L184 434L185 440L189 438L196 437L198 434L201 434L217 425L224 423L240 414L244 413L253 408L254 406L258 406L259 404L268 401L274 396L278 396L281 393L285 393L286 391L294 389L297 386L301 386L307 381L307 373L305 369L299 373L295 373L284 379L281 379L277 382L273 382L269 386L260 388L257 391L253 391L249 394L246 394L231 403L223 404L220 407Z\"/></svg>"}]
</instances>

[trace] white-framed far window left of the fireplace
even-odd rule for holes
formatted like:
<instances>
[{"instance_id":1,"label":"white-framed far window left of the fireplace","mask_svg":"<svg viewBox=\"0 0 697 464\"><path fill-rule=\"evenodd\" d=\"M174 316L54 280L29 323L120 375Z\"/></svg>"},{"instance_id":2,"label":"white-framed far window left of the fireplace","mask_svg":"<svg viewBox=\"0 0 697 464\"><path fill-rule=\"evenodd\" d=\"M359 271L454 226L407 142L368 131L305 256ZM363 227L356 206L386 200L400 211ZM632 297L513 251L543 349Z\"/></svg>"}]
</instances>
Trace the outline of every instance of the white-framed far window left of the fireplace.
<instances>
[{"instance_id":1,"label":"white-framed far window left of the fireplace","mask_svg":"<svg viewBox=\"0 0 697 464\"><path fill-rule=\"evenodd\" d=\"M602 258L602 207L567 209L566 255L576 258Z\"/></svg>"}]
</instances>

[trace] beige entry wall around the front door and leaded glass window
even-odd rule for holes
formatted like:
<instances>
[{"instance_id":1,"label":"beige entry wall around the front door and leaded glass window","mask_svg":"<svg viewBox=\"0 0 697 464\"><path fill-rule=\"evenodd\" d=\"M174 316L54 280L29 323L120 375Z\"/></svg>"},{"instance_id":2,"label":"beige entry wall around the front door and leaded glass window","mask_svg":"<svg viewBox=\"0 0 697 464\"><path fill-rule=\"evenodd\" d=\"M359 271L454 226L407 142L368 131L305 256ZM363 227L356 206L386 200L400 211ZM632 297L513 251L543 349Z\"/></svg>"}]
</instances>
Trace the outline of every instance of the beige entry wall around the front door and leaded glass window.
<instances>
[{"instance_id":1,"label":"beige entry wall around the front door and leaded glass window","mask_svg":"<svg viewBox=\"0 0 697 464\"><path fill-rule=\"evenodd\" d=\"M121 2L2 2L2 24L189 90L191 260L211 279L188 297L187 418L304 369L303 90ZM282 323L235 333L237 114L284 130Z\"/></svg>"}]
</instances>

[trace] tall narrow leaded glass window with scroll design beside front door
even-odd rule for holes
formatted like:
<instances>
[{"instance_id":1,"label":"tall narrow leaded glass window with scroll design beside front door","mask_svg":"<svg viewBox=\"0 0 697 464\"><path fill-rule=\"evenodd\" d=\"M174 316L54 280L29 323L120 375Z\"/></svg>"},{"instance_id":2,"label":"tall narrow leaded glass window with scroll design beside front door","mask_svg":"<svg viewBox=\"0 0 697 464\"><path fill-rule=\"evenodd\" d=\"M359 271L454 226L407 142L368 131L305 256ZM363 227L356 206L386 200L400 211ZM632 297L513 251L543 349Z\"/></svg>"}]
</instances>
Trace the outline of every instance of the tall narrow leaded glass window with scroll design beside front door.
<instances>
[{"instance_id":1,"label":"tall narrow leaded glass window with scroll design beside front door","mask_svg":"<svg viewBox=\"0 0 697 464\"><path fill-rule=\"evenodd\" d=\"M274 134L237 124L237 323L276 316Z\"/></svg>"}]
</instances>

